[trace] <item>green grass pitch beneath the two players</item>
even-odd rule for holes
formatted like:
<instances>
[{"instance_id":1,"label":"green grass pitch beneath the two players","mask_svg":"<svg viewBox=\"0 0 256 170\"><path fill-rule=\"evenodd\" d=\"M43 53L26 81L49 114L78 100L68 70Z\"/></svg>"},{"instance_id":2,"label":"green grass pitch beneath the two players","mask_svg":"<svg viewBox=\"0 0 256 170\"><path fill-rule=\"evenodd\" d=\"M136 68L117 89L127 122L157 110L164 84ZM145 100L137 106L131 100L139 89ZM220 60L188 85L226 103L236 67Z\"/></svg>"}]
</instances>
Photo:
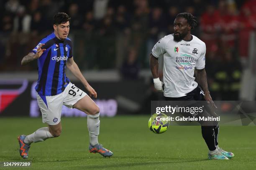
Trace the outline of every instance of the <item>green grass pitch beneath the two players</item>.
<instances>
[{"instance_id":1,"label":"green grass pitch beneath the two players","mask_svg":"<svg viewBox=\"0 0 256 170\"><path fill-rule=\"evenodd\" d=\"M41 118L0 118L0 162L31 161L29 170L255 170L256 127L220 126L219 144L232 160L207 160L200 126L170 126L163 134L148 129L149 116L101 117L99 141L113 151L111 158L88 151L86 118L62 118L60 137L31 144L29 157L18 153L19 134L46 124Z\"/></svg>"}]
</instances>

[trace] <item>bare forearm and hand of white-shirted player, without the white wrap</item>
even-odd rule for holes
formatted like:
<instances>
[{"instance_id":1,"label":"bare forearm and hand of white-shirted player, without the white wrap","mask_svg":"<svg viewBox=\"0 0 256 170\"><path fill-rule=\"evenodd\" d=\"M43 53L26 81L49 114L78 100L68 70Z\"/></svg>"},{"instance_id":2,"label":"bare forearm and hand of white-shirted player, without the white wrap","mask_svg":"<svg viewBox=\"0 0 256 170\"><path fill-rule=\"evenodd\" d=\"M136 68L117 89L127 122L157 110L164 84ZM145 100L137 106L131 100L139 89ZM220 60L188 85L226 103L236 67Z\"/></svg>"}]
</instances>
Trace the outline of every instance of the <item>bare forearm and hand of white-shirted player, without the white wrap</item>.
<instances>
[{"instance_id":1,"label":"bare forearm and hand of white-shirted player, without the white wrap","mask_svg":"<svg viewBox=\"0 0 256 170\"><path fill-rule=\"evenodd\" d=\"M210 92L208 90L207 76L206 76L205 68L197 69L196 70L196 76L197 76L198 84L202 87L202 90L205 93L205 100L209 101L210 103L212 103L212 105L215 108L217 108L216 105L214 104L214 102L212 101L212 97L211 97Z\"/></svg>"}]
</instances>

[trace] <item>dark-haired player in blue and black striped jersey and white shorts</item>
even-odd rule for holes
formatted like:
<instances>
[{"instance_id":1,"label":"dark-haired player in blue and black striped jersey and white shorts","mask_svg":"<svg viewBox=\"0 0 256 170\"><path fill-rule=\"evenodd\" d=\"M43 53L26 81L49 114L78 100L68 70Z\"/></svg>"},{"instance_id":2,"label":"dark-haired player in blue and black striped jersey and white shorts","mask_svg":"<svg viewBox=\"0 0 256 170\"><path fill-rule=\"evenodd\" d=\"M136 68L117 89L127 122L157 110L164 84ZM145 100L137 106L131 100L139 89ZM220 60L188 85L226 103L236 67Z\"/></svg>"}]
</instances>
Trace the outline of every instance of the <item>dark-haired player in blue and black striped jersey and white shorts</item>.
<instances>
[{"instance_id":1,"label":"dark-haired player in blue and black striped jersey and white shorts","mask_svg":"<svg viewBox=\"0 0 256 170\"><path fill-rule=\"evenodd\" d=\"M35 87L37 101L43 122L48 124L48 127L37 129L32 134L18 137L20 156L24 159L28 157L31 143L58 137L61 134L61 108L63 105L88 114L89 151L100 153L104 157L113 155L110 150L98 143L100 109L90 98L90 96L97 98L97 93L86 81L73 60L72 42L67 37L69 20L70 18L66 13L54 15L54 32L43 38L21 61L21 65L25 65L37 59L38 81ZM65 74L66 67L82 82L90 96L69 81Z\"/></svg>"}]
</instances>

